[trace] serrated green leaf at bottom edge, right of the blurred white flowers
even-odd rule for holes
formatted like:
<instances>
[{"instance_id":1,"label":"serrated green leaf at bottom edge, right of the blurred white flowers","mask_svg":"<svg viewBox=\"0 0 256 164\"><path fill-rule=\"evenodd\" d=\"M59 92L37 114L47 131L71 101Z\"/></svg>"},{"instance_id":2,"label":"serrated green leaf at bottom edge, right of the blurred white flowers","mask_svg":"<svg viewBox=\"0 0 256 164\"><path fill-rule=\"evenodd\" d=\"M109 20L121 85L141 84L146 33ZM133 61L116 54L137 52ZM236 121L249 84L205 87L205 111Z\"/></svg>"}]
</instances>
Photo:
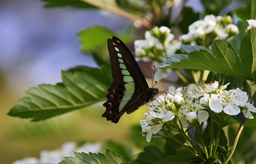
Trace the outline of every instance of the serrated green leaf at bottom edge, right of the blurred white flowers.
<instances>
[{"instance_id":1,"label":"serrated green leaf at bottom edge, right of the blurred white flowers","mask_svg":"<svg viewBox=\"0 0 256 164\"><path fill-rule=\"evenodd\" d=\"M122 157L118 156L114 152L107 150L105 154L85 154L85 153L75 153L75 157L65 157L64 161L60 164L74 164L74 163L91 163L91 164L128 164L129 162L125 161Z\"/></svg>"}]
</instances>

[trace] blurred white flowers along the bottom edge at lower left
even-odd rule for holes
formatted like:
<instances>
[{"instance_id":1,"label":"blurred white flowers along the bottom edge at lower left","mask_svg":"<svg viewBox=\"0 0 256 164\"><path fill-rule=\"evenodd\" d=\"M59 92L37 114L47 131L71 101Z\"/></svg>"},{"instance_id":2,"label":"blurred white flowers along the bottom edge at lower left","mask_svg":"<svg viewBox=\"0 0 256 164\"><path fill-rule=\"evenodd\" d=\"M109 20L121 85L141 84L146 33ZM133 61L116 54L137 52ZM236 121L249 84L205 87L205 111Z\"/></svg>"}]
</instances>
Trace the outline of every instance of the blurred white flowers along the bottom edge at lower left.
<instances>
[{"instance_id":1,"label":"blurred white flowers along the bottom edge at lower left","mask_svg":"<svg viewBox=\"0 0 256 164\"><path fill-rule=\"evenodd\" d=\"M13 164L55 164L61 162L64 157L74 157L73 152L84 153L98 153L102 150L100 143L85 143L77 147L75 142L64 143L59 150L42 150L40 152L40 159L38 158L24 158L13 162Z\"/></svg>"}]
</instances>

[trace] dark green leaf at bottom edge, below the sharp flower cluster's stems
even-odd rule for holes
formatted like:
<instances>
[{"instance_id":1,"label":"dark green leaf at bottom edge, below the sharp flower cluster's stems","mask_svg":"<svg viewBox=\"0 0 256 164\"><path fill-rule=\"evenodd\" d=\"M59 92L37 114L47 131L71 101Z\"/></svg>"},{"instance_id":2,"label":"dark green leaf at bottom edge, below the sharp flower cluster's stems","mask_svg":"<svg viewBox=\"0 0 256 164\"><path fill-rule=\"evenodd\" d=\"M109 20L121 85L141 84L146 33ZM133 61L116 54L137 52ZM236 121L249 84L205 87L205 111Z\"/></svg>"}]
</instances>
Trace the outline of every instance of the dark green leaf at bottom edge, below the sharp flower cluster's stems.
<instances>
[{"instance_id":1,"label":"dark green leaf at bottom edge, below the sharp flower cluster's stems","mask_svg":"<svg viewBox=\"0 0 256 164\"><path fill-rule=\"evenodd\" d=\"M163 159L160 159L156 163L157 164L183 164L183 163L187 164L187 163L190 163L189 161L191 161L193 157L194 156L187 155L187 154L177 154L177 155L168 156Z\"/></svg>"}]
</instances>

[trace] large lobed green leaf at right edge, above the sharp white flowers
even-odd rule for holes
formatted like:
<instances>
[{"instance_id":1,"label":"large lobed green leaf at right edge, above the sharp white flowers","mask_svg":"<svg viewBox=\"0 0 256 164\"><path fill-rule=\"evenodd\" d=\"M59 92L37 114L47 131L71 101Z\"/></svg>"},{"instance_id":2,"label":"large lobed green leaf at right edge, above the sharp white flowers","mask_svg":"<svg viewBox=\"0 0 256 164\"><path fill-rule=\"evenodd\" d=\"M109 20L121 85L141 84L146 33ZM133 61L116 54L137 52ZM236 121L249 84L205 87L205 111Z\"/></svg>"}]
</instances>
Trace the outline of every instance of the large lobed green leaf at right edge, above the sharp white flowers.
<instances>
[{"instance_id":1,"label":"large lobed green leaf at right edge, above the sharp white flowers","mask_svg":"<svg viewBox=\"0 0 256 164\"><path fill-rule=\"evenodd\" d=\"M188 57L188 58L187 58ZM188 56L170 56L160 68L187 68L195 70L209 70L256 80L256 29L247 32L242 40L240 55L238 55L228 41L215 40L212 53L200 49L191 51ZM177 62L173 62L173 61Z\"/></svg>"}]
</instances>

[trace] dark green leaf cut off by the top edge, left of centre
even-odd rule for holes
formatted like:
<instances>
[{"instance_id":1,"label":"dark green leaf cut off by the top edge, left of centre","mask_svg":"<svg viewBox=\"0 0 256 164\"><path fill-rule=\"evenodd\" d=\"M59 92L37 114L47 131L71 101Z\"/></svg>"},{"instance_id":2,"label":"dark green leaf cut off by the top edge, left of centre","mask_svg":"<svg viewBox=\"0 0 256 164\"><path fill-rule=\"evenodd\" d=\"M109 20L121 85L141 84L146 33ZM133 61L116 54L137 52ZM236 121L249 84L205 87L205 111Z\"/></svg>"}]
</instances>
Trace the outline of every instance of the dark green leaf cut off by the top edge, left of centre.
<instances>
[{"instance_id":1,"label":"dark green leaf cut off by the top edge, left of centre","mask_svg":"<svg viewBox=\"0 0 256 164\"><path fill-rule=\"evenodd\" d=\"M80 0L42 0L46 2L44 7L76 7L76 8L96 8L88 3L85 3Z\"/></svg>"}]
</instances>

